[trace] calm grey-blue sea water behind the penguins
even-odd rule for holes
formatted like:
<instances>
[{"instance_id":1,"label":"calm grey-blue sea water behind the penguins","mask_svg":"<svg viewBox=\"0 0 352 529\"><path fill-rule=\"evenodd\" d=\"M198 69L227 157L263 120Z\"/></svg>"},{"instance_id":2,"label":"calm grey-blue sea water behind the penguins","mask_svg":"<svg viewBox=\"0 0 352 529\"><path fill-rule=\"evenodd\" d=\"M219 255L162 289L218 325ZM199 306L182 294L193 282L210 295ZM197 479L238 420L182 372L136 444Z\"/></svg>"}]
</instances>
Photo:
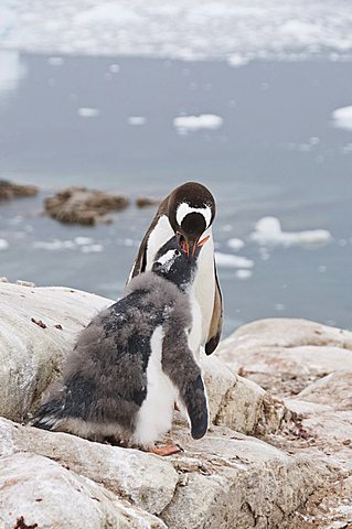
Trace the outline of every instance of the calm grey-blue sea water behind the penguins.
<instances>
[{"instance_id":1,"label":"calm grey-blue sea water behind the penguins","mask_svg":"<svg viewBox=\"0 0 352 529\"><path fill-rule=\"evenodd\" d=\"M9 244L0 276L116 299L154 209L131 205L114 224L85 228L39 215L43 198L71 185L161 197L198 180L216 196L217 250L254 261L247 279L220 266L226 334L271 316L352 328L352 130L332 121L334 109L352 105L351 63L57 62L21 54L0 77L0 179L41 187L35 198L0 205ZM183 114L223 125L180 134L173 119ZM287 231L323 228L332 239L263 249L250 233L267 215ZM231 238L245 246L233 250Z\"/></svg>"}]
</instances>

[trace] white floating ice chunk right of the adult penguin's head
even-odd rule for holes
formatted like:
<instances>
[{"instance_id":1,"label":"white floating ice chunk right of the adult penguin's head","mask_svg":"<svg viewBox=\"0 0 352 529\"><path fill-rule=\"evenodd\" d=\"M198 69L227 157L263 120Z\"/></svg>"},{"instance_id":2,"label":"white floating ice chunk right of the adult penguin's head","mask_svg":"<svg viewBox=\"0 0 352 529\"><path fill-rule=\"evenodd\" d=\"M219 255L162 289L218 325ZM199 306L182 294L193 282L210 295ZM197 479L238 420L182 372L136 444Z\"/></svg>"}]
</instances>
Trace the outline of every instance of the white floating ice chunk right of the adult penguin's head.
<instances>
[{"instance_id":1,"label":"white floating ice chunk right of the adult penguin's head","mask_svg":"<svg viewBox=\"0 0 352 529\"><path fill-rule=\"evenodd\" d=\"M280 220L277 217L263 217L256 223L250 239L259 245L312 246L328 242L331 239L331 234L327 229L282 231Z\"/></svg>"}]
</instances>

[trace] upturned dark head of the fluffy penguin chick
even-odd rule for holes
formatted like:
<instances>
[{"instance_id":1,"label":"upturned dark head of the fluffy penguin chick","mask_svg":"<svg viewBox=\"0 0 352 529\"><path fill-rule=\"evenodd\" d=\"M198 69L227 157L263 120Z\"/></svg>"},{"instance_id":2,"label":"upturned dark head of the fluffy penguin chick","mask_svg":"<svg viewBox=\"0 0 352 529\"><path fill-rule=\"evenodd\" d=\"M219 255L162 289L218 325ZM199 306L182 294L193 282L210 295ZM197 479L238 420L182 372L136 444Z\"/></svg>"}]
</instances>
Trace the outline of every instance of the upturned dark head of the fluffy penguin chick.
<instances>
[{"instance_id":1,"label":"upturned dark head of the fluffy penguin chick","mask_svg":"<svg viewBox=\"0 0 352 529\"><path fill-rule=\"evenodd\" d=\"M158 251L152 271L172 281L184 291L193 281L200 251L201 246L195 247L192 256L188 257L179 248L178 237L174 236Z\"/></svg>"}]
</instances>

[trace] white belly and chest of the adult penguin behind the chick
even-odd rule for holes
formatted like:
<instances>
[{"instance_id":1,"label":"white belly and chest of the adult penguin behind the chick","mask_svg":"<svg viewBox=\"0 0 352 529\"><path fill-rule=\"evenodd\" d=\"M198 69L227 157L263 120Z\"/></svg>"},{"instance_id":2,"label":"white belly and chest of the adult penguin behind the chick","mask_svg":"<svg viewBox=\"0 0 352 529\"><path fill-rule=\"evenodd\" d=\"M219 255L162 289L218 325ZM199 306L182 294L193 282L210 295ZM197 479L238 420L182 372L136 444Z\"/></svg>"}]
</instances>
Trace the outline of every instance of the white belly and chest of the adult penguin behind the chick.
<instances>
[{"instance_id":1,"label":"white belly and chest of the adult penguin behind the chick","mask_svg":"<svg viewBox=\"0 0 352 529\"><path fill-rule=\"evenodd\" d=\"M200 325L201 327L201 337L199 339L200 344L205 343L207 337L207 332L213 315L215 296L214 241L211 227L204 231L202 238L206 237L207 235L210 238L201 249L200 257L198 259L198 271L191 292L191 303L193 298L199 305L199 309L192 306L192 314L194 313L194 315L196 315L199 311L201 312L200 319L198 316L193 319L194 325ZM174 233L170 226L168 217L162 215L148 240L146 270L151 269L159 249L173 236ZM196 342L195 335L196 333L194 331L192 338L192 343L194 344Z\"/></svg>"}]
</instances>

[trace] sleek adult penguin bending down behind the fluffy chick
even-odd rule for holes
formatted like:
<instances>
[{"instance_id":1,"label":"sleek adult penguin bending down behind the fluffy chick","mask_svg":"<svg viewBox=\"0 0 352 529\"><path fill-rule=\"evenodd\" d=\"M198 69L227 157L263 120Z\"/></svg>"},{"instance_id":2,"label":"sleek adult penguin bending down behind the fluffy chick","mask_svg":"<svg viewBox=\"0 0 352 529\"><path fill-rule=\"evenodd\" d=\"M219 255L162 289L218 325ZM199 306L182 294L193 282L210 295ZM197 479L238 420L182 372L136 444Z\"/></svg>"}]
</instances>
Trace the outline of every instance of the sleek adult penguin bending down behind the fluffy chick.
<instances>
[{"instance_id":1,"label":"sleek adult penguin bending down behind the fluffy chick","mask_svg":"<svg viewBox=\"0 0 352 529\"><path fill-rule=\"evenodd\" d=\"M199 245L204 245L192 288L193 314L199 313L201 343L211 355L220 341L223 323L223 300L214 261L212 223L215 217L215 199L212 193L198 182L188 182L173 190L160 204L147 229L130 272L130 279L150 270L159 249L173 235L180 248L191 258ZM196 305L196 306L194 306ZM198 337L194 338L198 341Z\"/></svg>"}]
</instances>

